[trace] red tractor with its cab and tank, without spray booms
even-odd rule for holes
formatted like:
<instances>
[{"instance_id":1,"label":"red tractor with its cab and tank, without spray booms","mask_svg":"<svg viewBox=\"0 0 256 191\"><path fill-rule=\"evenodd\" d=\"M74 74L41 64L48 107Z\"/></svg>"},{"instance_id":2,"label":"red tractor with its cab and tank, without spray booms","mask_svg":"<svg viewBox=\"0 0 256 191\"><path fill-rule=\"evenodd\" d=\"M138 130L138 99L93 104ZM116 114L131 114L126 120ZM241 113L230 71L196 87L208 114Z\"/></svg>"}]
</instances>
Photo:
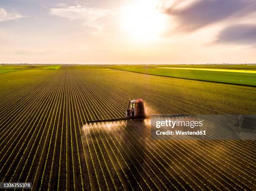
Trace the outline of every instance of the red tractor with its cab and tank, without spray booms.
<instances>
[{"instance_id":1,"label":"red tractor with its cab and tank, without spray booms","mask_svg":"<svg viewBox=\"0 0 256 191\"><path fill-rule=\"evenodd\" d=\"M146 111L142 99L129 101L129 106L128 109L126 109L125 115L143 118L146 115Z\"/></svg>"}]
</instances>

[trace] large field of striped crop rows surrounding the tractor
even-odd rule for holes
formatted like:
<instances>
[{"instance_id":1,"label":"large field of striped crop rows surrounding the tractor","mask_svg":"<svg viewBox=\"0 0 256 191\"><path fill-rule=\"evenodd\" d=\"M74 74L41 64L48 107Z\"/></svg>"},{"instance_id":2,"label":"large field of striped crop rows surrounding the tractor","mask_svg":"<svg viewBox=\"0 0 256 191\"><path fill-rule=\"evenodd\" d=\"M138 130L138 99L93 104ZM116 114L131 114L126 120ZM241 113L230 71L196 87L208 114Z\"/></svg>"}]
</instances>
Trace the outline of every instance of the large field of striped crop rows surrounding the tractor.
<instances>
[{"instance_id":1,"label":"large field of striped crop rows surrounding the tractor","mask_svg":"<svg viewBox=\"0 0 256 191\"><path fill-rule=\"evenodd\" d=\"M148 114L255 115L255 87L112 68L0 74L0 182L32 182L33 190L256 190L255 140L152 140L148 120L87 123L124 116L136 98ZM250 74L245 80L255 84Z\"/></svg>"}]
</instances>

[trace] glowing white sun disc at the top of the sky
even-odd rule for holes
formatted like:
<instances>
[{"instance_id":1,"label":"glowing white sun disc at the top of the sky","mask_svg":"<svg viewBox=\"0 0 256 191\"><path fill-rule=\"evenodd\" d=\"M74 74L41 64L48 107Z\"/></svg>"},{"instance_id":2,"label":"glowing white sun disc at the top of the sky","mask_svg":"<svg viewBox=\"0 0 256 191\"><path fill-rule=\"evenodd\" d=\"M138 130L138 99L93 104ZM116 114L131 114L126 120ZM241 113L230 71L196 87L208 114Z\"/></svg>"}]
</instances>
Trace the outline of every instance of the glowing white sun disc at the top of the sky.
<instances>
[{"instance_id":1,"label":"glowing white sun disc at the top of the sky","mask_svg":"<svg viewBox=\"0 0 256 191\"><path fill-rule=\"evenodd\" d=\"M123 8L123 29L136 40L154 40L165 28L158 0L138 0Z\"/></svg>"}]
</instances>

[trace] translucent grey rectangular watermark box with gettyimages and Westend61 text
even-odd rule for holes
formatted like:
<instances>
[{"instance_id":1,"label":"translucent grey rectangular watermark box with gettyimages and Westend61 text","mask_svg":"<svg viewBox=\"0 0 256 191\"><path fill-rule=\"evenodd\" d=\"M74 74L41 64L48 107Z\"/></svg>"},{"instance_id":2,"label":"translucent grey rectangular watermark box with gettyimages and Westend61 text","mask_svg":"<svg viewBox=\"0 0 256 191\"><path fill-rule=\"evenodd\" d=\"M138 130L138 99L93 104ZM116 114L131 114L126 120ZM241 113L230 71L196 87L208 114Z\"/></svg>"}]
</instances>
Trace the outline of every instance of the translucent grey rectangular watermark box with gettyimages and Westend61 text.
<instances>
[{"instance_id":1,"label":"translucent grey rectangular watermark box with gettyimages and Westend61 text","mask_svg":"<svg viewBox=\"0 0 256 191\"><path fill-rule=\"evenodd\" d=\"M256 115L152 115L151 138L255 140Z\"/></svg>"}]
</instances>

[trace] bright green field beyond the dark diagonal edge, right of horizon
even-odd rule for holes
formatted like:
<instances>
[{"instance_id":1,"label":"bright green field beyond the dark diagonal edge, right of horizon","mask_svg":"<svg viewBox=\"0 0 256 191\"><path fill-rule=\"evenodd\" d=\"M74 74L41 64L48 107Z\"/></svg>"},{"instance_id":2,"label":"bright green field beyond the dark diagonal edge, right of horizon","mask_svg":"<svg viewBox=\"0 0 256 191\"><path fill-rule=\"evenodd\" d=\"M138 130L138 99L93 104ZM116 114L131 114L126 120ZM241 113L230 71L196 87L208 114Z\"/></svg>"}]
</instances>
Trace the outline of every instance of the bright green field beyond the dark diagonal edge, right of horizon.
<instances>
[{"instance_id":1,"label":"bright green field beyond the dark diagonal edge, right of horizon","mask_svg":"<svg viewBox=\"0 0 256 191\"><path fill-rule=\"evenodd\" d=\"M169 65L151 65L149 67L115 66L112 68L116 70L124 70L129 72L145 73L151 75L160 75L166 77L256 86L256 66L229 66L229 68L228 66L225 66L223 68L220 66L215 66L215 69L212 69L212 67L207 67L208 65L205 65L204 67L201 66L201 68L197 68L197 66L192 65L189 65L189 67L184 68L181 68L180 65L177 65L176 67L174 67L173 65L172 67L170 67Z\"/></svg>"}]
</instances>

